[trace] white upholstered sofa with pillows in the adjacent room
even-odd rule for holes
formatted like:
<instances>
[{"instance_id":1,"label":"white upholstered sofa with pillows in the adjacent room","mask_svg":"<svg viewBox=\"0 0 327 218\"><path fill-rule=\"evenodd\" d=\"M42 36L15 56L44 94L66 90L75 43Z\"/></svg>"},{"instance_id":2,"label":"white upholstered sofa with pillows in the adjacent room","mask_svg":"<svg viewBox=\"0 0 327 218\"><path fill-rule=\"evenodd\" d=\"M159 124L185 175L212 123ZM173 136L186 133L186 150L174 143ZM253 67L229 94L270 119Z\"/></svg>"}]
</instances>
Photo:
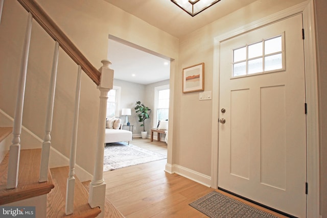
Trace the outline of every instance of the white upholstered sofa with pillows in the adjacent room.
<instances>
[{"instance_id":1,"label":"white upholstered sofa with pillows in the adjacent room","mask_svg":"<svg viewBox=\"0 0 327 218\"><path fill-rule=\"evenodd\" d=\"M132 140L132 132L123 130L122 120L111 117L106 121L105 143L129 141Z\"/></svg>"}]
</instances>

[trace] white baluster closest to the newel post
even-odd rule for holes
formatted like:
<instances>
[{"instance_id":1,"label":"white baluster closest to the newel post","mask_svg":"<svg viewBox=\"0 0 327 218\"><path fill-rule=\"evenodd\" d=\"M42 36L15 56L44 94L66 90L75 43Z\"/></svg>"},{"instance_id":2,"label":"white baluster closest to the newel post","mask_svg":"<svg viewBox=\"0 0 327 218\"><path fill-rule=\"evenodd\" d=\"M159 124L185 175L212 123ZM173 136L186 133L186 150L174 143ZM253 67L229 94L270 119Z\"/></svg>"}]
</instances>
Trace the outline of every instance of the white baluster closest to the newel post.
<instances>
[{"instance_id":1,"label":"white baluster closest to the newel post","mask_svg":"<svg viewBox=\"0 0 327 218\"><path fill-rule=\"evenodd\" d=\"M77 144L77 127L78 127L78 115L80 109L80 93L81 93L81 66L78 65L76 91L75 91L75 109L74 109L74 123L73 134L71 142L71 154L69 156L69 174L67 178L66 188L66 215L74 212L74 187L75 187L75 162L76 162L76 144Z\"/></svg>"}]
</instances>

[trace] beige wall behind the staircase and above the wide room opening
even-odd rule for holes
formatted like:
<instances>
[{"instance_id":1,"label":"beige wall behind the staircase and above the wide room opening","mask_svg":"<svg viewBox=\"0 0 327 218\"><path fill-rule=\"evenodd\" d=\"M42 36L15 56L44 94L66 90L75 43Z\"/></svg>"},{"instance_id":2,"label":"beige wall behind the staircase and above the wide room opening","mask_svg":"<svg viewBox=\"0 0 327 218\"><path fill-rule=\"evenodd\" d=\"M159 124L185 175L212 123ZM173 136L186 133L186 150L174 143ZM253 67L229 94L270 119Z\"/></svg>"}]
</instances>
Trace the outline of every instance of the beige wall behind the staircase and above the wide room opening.
<instances>
[{"instance_id":1,"label":"beige wall behind the staircase and above the wide room opening","mask_svg":"<svg viewBox=\"0 0 327 218\"><path fill-rule=\"evenodd\" d=\"M177 59L178 39L102 0L37 0L57 25L97 68L107 57L108 35ZM19 63L27 12L17 1L5 0L0 25L0 108L13 117ZM44 135L54 42L33 22L23 125L40 138ZM41 54L39 54L41 53ZM52 146L69 156L77 65L59 54ZM92 173L99 111L99 91L82 74L77 164ZM24 143L24 142L21 142Z\"/></svg>"}]
</instances>

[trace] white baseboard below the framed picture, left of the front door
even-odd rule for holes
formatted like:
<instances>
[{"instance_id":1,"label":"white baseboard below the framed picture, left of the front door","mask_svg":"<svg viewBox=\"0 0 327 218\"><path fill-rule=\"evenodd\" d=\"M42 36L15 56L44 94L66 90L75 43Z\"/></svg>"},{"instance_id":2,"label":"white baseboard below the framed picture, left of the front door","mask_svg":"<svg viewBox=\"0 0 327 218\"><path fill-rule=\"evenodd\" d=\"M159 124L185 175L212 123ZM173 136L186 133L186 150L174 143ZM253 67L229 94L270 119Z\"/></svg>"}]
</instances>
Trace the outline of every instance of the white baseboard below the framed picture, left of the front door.
<instances>
[{"instance_id":1,"label":"white baseboard below the framed picture, left of the front door","mask_svg":"<svg viewBox=\"0 0 327 218\"><path fill-rule=\"evenodd\" d=\"M177 165L177 164L166 164L165 171L170 174L178 174L180 176L183 176L185 178L191 179L197 183L200 183L206 187L211 187L211 177L206 176L204 174L198 173L196 171L193 171L192 169L185 168L183 166Z\"/></svg>"}]
</instances>

